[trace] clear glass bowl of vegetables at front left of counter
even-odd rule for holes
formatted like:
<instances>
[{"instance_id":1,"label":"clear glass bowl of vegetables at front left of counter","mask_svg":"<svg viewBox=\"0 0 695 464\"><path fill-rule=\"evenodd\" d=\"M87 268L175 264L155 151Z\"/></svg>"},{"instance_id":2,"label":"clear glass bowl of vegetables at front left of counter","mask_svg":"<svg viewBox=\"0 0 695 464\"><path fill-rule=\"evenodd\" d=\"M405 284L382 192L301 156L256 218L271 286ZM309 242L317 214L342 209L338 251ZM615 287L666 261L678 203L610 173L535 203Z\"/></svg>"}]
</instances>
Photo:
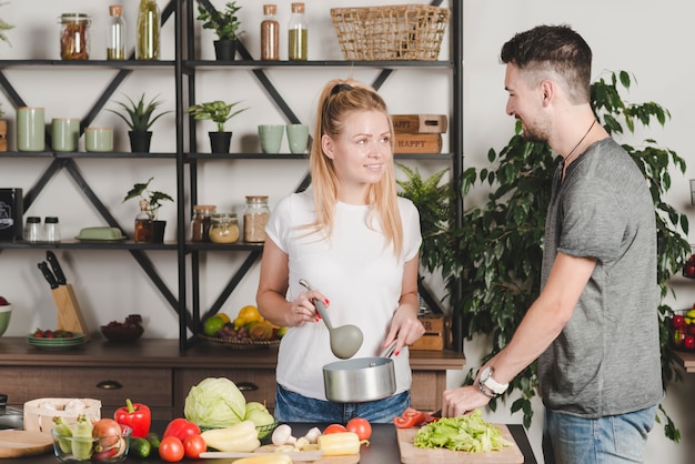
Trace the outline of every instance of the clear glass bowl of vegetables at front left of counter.
<instances>
[{"instance_id":1,"label":"clear glass bowl of vegetables at front left of counter","mask_svg":"<svg viewBox=\"0 0 695 464\"><path fill-rule=\"evenodd\" d=\"M61 463L119 463L128 457L130 448L130 434L132 428L122 426L120 435L77 437L61 435L54 428L51 430L53 436L53 454Z\"/></svg>"}]
</instances>

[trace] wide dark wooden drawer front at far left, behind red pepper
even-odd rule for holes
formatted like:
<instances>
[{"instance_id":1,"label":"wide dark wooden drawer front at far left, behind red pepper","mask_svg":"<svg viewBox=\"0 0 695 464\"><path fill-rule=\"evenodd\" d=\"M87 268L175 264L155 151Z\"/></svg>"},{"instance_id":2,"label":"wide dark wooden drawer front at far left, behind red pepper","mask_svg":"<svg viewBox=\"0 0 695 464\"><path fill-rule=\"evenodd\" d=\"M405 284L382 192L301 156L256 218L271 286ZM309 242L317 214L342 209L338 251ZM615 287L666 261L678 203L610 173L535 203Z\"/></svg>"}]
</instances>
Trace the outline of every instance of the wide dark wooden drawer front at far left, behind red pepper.
<instances>
[{"instance_id":1,"label":"wide dark wooden drawer front at far left, behind red pepper","mask_svg":"<svg viewBox=\"0 0 695 464\"><path fill-rule=\"evenodd\" d=\"M101 401L101 416L125 405L125 399L150 406L154 418L172 414L170 369L3 367L2 391L22 406L41 397L89 397Z\"/></svg>"}]
</instances>

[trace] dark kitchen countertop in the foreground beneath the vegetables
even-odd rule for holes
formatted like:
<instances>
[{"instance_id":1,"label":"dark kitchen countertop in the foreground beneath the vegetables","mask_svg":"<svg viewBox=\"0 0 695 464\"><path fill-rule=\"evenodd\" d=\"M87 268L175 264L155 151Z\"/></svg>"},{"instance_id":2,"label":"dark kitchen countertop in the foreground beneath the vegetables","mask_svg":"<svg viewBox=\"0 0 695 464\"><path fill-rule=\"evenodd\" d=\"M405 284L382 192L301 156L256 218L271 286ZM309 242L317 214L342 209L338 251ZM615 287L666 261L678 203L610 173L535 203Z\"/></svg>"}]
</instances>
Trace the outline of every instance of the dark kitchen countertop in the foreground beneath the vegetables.
<instances>
[{"instance_id":1,"label":"dark kitchen countertop in the foreground beneath the vegetables","mask_svg":"<svg viewBox=\"0 0 695 464\"><path fill-rule=\"evenodd\" d=\"M292 431L295 436L303 435L309 428L316 424L291 424ZM154 430L163 430L165 423L157 422ZM325 426L325 424L318 425L320 428ZM524 432L524 427L518 424L507 425L512 436L516 441L516 444L521 448L524 454L524 463L525 464L536 464L537 461L533 455L533 451L531 450L531 444L528 443L528 438L526 437L526 433ZM370 446L362 446L360 453L360 464L397 464L401 462L399 445L396 442L395 427L392 424L373 424L372 425L372 438ZM23 458L12 458L12 460L0 460L1 464L56 464L58 460L51 455L46 454L42 456L30 456ZM154 457L149 457L147 461L129 457L127 463L151 463L151 464L160 464L163 461ZM231 460L184 460L182 463L207 463L207 464L230 464Z\"/></svg>"}]
</instances>

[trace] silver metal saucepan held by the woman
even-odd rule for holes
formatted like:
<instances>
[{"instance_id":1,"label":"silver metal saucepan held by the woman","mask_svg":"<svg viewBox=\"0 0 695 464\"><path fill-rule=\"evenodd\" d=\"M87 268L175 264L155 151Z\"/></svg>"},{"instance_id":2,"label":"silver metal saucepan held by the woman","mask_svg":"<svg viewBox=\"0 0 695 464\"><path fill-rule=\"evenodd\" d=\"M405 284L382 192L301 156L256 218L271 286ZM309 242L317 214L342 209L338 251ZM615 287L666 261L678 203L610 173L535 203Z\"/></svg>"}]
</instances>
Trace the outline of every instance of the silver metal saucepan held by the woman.
<instances>
[{"instance_id":1,"label":"silver metal saucepan held by the woman","mask_svg":"<svg viewBox=\"0 0 695 464\"><path fill-rule=\"evenodd\" d=\"M355 357L323 366L325 397L336 403L381 400L395 392L390 357Z\"/></svg>"}]
</instances>

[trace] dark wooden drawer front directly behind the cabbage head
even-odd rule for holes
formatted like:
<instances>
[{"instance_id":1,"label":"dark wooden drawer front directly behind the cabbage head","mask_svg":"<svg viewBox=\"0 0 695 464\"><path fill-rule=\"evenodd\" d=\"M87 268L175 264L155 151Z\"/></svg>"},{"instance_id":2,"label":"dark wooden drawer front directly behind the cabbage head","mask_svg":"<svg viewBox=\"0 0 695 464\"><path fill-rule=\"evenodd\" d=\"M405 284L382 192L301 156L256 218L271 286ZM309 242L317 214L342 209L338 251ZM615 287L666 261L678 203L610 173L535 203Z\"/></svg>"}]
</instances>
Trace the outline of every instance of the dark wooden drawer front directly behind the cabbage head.
<instances>
[{"instance_id":1,"label":"dark wooden drawer front directly behind the cabbage head","mask_svg":"<svg viewBox=\"0 0 695 464\"><path fill-rule=\"evenodd\" d=\"M274 369L185 369L174 373L174 412L183 414L185 397L191 386L207 377L226 377L241 390L246 402L264 403L272 413L275 408Z\"/></svg>"}]
</instances>

